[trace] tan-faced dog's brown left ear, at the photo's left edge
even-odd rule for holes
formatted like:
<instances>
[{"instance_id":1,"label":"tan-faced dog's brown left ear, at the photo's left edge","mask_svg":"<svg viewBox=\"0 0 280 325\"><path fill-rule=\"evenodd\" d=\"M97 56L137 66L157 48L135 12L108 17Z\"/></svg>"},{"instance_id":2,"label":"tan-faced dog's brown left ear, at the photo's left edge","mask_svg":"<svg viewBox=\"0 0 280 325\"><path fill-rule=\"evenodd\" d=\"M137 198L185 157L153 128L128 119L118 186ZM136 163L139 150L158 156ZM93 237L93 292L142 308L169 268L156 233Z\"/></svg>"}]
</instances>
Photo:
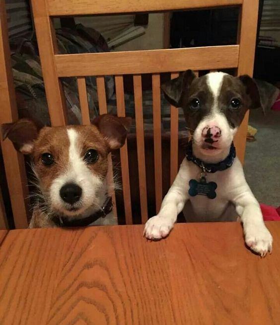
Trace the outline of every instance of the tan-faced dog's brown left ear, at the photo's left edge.
<instances>
[{"instance_id":1,"label":"tan-faced dog's brown left ear, at the photo's left edge","mask_svg":"<svg viewBox=\"0 0 280 325\"><path fill-rule=\"evenodd\" d=\"M34 140L38 137L38 129L35 123L27 118L13 123L1 125L2 139L8 138L14 148L24 155L32 153Z\"/></svg>"}]
</instances>

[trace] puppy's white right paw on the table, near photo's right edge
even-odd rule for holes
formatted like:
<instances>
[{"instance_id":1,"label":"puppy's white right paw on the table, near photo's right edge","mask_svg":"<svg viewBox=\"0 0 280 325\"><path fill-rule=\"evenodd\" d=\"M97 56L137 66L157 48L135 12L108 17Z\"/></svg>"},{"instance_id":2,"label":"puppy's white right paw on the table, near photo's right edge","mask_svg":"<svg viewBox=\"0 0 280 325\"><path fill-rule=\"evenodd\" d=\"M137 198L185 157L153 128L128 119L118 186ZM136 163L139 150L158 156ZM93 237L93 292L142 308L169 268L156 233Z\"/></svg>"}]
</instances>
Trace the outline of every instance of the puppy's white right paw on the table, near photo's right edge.
<instances>
[{"instance_id":1,"label":"puppy's white right paw on the table, near photo's right edge","mask_svg":"<svg viewBox=\"0 0 280 325\"><path fill-rule=\"evenodd\" d=\"M262 257L272 252L272 236L264 225L247 226L244 229L245 242L253 251L260 254Z\"/></svg>"}]
</instances>

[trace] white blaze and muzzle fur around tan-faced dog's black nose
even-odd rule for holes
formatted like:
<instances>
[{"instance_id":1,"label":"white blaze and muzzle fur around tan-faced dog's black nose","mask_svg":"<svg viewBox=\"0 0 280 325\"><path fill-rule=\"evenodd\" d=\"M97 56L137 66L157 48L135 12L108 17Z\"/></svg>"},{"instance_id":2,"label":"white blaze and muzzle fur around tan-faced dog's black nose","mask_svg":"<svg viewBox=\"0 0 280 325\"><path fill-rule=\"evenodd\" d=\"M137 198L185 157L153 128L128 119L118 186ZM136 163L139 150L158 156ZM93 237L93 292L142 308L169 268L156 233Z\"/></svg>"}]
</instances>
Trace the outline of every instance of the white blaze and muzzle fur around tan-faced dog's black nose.
<instances>
[{"instance_id":1,"label":"white blaze and muzzle fur around tan-faced dog's black nose","mask_svg":"<svg viewBox=\"0 0 280 325\"><path fill-rule=\"evenodd\" d=\"M65 209L69 208L60 197L60 189L67 183L74 183L81 187L82 195L81 199L73 205L74 208L80 210L82 213L84 210L91 207L93 204L97 206L100 202L97 202L97 194L103 185L102 179L94 174L86 165L82 157L81 139L79 139L79 133L69 128L67 129L69 138L69 160L65 166L65 172L57 177L51 185L51 201L57 210L64 212L65 214L77 214L77 212L66 212Z\"/></svg>"}]
</instances>

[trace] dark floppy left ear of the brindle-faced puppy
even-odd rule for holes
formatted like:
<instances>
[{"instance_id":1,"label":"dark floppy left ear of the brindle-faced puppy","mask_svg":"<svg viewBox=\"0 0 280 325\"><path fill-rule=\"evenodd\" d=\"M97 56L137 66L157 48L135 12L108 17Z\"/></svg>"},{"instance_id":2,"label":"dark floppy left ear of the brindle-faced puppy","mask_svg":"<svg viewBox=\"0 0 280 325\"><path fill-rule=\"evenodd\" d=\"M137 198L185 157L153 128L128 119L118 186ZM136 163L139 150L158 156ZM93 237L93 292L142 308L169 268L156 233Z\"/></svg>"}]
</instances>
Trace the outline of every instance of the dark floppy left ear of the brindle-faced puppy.
<instances>
[{"instance_id":1,"label":"dark floppy left ear of the brindle-faced puppy","mask_svg":"<svg viewBox=\"0 0 280 325\"><path fill-rule=\"evenodd\" d=\"M161 85L164 97L175 107L181 107L184 91L188 90L192 81L196 78L192 70L187 70L179 77L171 79Z\"/></svg>"}]
</instances>

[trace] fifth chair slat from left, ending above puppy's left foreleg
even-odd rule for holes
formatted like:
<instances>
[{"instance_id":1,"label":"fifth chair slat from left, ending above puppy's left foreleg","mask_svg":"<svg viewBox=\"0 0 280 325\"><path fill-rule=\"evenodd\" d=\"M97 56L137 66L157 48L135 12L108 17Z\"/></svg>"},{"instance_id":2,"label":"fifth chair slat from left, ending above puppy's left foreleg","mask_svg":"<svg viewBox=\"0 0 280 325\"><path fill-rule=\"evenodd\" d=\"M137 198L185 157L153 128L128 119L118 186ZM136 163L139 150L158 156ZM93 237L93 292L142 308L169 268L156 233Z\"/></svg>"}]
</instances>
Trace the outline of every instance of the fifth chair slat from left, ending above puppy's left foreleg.
<instances>
[{"instance_id":1,"label":"fifth chair slat from left, ending above puppy's left foreleg","mask_svg":"<svg viewBox=\"0 0 280 325\"><path fill-rule=\"evenodd\" d=\"M154 177L155 205L159 212L162 201L162 161L161 161L161 109L160 109L160 75L152 75L153 105L153 141L154 141Z\"/></svg>"}]
</instances>

